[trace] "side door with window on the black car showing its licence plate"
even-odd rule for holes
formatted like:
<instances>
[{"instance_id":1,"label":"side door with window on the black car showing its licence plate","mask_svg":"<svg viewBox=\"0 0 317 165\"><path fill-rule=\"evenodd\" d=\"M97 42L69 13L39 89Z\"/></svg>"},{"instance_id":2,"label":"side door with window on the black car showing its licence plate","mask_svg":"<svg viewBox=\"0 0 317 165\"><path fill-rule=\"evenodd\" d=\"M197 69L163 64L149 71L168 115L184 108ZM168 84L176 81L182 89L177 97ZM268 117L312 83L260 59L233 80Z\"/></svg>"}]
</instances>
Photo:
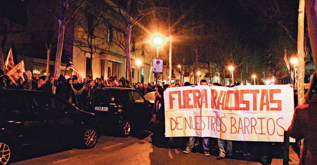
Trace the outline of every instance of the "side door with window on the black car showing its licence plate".
<instances>
[{"instance_id":1,"label":"side door with window on the black car showing its licence plate","mask_svg":"<svg viewBox=\"0 0 317 165\"><path fill-rule=\"evenodd\" d=\"M138 119L140 126L146 126L149 124L152 113L151 106L139 92L131 91L133 98L133 107L135 107L136 119Z\"/></svg>"}]
</instances>

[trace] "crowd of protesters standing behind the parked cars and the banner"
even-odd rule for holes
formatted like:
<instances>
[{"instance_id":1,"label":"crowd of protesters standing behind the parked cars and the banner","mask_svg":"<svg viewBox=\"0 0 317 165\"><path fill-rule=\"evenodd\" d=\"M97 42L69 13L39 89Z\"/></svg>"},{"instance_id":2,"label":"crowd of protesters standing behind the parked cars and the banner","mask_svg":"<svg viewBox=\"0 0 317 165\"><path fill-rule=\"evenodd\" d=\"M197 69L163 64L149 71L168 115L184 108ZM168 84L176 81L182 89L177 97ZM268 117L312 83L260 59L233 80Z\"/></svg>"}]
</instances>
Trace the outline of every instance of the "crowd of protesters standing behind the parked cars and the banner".
<instances>
[{"instance_id":1,"label":"crowd of protesters standing behind the parked cars and the banner","mask_svg":"<svg viewBox=\"0 0 317 165\"><path fill-rule=\"evenodd\" d=\"M152 123L152 141L153 145L159 146L159 143L168 144L168 147L177 149L183 149L183 153L191 153L194 148L202 146L202 150L205 156L210 156L210 150L217 151L218 157L216 159L223 159L233 155L233 142L230 140L217 139L212 137L170 137L166 138L165 133L165 115L164 115L164 98L163 92L169 87L179 86L195 86L197 84L191 84L185 82L184 84L154 84L152 83L130 83L128 80L118 77L110 77L109 79L102 80L96 78L93 80L91 76L87 76L82 82L78 80L77 76L66 79L63 75L57 80L53 77L46 76L32 76L32 73L28 70L24 73L24 80L19 78L16 82L12 82L7 75L4 75L0 69L0 89L32 89L41 90L48 93L54 93L70 103L76 105L78 108L83 109L96 89L103 87L127 87L134 88L142 95L155 91L155 103L153 106L153 116L151 119ZM201 80L199 85L208 85L206 80ZM219 83L213 83L209 85L221 86ZM293 126L294 127L294 126ZM294 129L290 130L291 133L295 132ZM293 135L292 133L291 135ZM297 137L297 135L293 135ZM164 139L164 140L162 140ZM166 143L167 142L167 143ZM200 145L201 144L201 145ZM249 152L250 142L240 143L240 152L245 155L251 155ZM183 146L182 146L183 145ZM241 147L242 146L242 147ZM268 145L262 145L269 151L271 148ZM226 149L225 149L226 148ZM271 153L267 153L270 155ZM264 154L265 155L265 154Z\"/></svg>"}]
</instances>

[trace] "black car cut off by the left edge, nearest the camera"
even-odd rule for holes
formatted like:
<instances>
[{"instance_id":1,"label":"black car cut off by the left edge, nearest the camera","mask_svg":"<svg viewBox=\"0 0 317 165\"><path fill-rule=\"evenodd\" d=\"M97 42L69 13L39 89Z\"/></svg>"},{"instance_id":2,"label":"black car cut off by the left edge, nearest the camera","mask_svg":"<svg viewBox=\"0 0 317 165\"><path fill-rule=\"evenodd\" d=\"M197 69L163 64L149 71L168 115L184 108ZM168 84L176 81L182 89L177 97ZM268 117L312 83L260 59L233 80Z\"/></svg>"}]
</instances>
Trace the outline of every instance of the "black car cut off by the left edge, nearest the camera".
<instances>
[{"instance_id":1,"label":"black car cut off by the left edge, nearest the camera","mask_svg":"<svg viewBox=\"0 0 317 165\"><path fill-rule=\"evenodd\" d=\"M96 143L94 114L80 111L53 94L0 90L0 164L30 151L57 146L92 148Z\"/></svg>"}]
</instances>

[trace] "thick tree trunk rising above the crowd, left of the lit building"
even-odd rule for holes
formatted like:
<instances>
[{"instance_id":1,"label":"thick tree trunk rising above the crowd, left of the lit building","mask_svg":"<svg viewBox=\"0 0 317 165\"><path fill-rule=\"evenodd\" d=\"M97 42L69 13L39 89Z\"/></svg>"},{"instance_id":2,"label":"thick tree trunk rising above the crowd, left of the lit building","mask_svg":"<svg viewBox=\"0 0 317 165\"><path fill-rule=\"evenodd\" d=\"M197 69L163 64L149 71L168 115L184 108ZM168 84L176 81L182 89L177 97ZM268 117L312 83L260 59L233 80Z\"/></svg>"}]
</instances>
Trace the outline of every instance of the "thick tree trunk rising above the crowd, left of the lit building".
<instances>
[{"instance_id":1,"label":"thick tree trunk rising above the crowd, left of the lit building","mask_svg":"<svg viewBox=\"0 0 317 165\"><path fill-rule=\"evenodd\" d=\"M58 38L57 38L57 50L55 58L55 69L54 69L54 79L57 79L60 75L60 63L61 63L61 54L64 44L64 35L65 35L65 20L58 20Z\"/></svg>"}]
</instances>

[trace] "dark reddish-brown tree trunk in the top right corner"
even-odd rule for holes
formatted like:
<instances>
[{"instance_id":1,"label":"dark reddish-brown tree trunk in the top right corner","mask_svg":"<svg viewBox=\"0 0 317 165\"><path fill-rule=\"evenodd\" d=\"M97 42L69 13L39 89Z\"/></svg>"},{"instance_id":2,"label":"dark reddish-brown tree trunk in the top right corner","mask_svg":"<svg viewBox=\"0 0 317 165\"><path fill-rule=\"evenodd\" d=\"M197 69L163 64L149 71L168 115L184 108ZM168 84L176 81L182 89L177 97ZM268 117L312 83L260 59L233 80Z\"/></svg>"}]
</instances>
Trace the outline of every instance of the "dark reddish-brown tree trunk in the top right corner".
<instances>
[{"instance_id":1,"label":"dark reddish-brown tree trunk in the top right corner","mask_svg":"<svg viewBox=\"0 0 317 165\"><path fill-rule=\"evenodd\" d=\"M317 74L317 2L315 0L306 0L306 15L309 41L312 50L312 57L315 64L315 73Z\"/></svg>"}]
</instances>

